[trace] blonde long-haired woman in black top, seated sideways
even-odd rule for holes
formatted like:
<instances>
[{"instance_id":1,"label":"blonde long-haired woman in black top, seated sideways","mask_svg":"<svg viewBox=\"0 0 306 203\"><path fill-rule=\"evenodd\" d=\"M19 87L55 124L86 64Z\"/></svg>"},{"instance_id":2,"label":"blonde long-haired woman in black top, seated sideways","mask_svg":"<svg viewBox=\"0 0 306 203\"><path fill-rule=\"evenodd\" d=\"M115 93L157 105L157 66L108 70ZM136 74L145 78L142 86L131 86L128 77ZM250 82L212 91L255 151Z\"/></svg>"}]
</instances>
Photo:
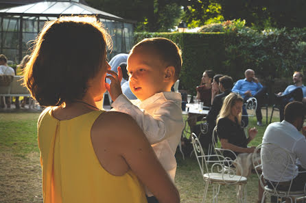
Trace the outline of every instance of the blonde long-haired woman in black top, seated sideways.
<instances>
[{"instance_id":1,"label":"blonde long-haired woman in black top, seated sideways","mask_svg":"<svg viewBox=\"0 0 306 203\"><path fill-rule=\"evenodd\" d=\"M248 148L248 144L257 135L257 129L255 127L249 128L248 138L246 138L244 128L241 126L243 103L244 99L242 96L236 93L230 93L224 98L220 114L217 118L217 135L220 139L221 147L232 150L237 155L237 159L240 159L239 163L242 163L243 167L241 174L248 176L250 175L250 169L252 167L252 153L256 148L255 146ZM224 151L223 155L232 160L235 159L235 155L229 151ZM257 202L261 201L262 196L263 189L261 188L260 182L258 182Z\"/></svg>"}]
</instances>

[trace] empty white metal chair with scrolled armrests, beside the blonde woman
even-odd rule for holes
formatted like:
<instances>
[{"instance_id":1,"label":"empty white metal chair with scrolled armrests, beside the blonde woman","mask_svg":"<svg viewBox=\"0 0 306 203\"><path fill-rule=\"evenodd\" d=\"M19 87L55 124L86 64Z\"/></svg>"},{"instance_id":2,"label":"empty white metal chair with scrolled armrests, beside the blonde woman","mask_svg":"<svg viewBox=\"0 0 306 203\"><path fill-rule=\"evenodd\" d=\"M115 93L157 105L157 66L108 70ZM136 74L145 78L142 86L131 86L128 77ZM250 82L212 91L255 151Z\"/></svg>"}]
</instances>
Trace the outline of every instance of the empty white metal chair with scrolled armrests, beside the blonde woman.
<instances>
[{"instance_id":1,"label":"empty white metal chair with scrolled armrests, beside the blonde woman","mask_svg":"<svg viewBox=\"0 0 306 203\"><path fill-rule=\"evenodd\" d=\"M205 182L202 202L204 203L206 200L207 190L210 184L213 185L213 202L217 202L221 185L238 186L237 189L241 192L237 195L237 202L246 202L247 178L235 175L235 169L228 167L228 165L233 164L233 161L219 154L205 155L196 134L192 133L191 139L202 178ZM208 158L210 159L208 160Z\"/></svg>"}]
</instances>

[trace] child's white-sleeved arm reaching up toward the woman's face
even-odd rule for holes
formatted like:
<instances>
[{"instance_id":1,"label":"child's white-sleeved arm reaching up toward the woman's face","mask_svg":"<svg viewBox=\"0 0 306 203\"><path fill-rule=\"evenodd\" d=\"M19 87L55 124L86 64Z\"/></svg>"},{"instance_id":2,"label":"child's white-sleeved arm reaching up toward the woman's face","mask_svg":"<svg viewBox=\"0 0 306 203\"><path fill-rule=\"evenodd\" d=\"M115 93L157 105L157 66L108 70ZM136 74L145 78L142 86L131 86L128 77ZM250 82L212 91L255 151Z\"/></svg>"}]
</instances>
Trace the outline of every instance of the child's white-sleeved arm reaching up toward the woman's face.
<instances>
[{"instance_id":1,"label":"child's white-sleeved arm reaching up toward the woman's face","mask_svg":"<svg viewBox=\"0 0 306 203\"><path fill-rule=\"evenodd\" d=\"M181 135L184 128L181 107L172 100L163 100L163 102L161 100L152 103L152 107L156 108L153 114L149 114L145 110L142 111L133 105L124 94L118 96L112 107L115 108L115 111L132 116L145 133L150 144L156 144L171 135Z\"/></svg>"}]
</instances>

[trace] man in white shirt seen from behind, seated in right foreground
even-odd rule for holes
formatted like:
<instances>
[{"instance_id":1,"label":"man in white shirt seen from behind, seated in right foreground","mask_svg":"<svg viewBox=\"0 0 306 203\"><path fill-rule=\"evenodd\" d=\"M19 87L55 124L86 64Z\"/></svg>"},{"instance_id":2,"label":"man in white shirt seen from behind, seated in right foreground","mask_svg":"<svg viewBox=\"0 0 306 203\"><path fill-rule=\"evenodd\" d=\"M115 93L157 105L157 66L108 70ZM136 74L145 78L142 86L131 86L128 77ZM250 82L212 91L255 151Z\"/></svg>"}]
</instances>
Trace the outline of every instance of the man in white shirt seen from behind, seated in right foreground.
<instances>
[{"instance_id":1,"label":"man in white shirt seen from behind, seated in right foreground","mask_svg":"<svg viewBox=\"0 0 306 203\"><path fill-rule=\"evenodd\" d=\"M263 143L272 143L287 150L292 157L294 163L301 165L286 165L281 162L269 161L268 159L261 159L263 178L269 184L274 182L285 182L292 180L291 191L301 191L306 184L306 130L303 127L304 116L306 109L303 103L294 101L285 106L285 120L282 122L274 122L270 124L263 135ZM299 131L301 131L300 133ZM261 154L268 154L266 150L270 148L262 148ZM282 177L282 178L281 178ZM282 180L279 180L279 179Z\"/></svg>"}]
</instances>

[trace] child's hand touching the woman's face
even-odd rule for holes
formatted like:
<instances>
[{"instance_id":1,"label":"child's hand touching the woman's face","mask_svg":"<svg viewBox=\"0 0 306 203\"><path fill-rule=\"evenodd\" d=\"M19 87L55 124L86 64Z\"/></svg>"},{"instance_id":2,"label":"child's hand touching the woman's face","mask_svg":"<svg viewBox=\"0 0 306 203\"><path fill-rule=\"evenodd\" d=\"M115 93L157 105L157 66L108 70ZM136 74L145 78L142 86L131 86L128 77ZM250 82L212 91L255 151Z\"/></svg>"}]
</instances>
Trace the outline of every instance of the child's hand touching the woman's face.
<instances>
[{"instance_id":1,"label":"child's hand touching the woman's face","mask_svg":"<svg viewBox=\"0 0 306 203\"><path fill-rule=\"evenodd\" d=\"M108 70L107 73L110 75L107 75L106 78L110 79L111 83L105 83L106 90L110 93L110 96L113 101L117 99L117 97L122 94L121 90L121 79L122 79L122 71L120 66L118 67L118 75L113 70Z\"/></svg>"}]
</instances>

